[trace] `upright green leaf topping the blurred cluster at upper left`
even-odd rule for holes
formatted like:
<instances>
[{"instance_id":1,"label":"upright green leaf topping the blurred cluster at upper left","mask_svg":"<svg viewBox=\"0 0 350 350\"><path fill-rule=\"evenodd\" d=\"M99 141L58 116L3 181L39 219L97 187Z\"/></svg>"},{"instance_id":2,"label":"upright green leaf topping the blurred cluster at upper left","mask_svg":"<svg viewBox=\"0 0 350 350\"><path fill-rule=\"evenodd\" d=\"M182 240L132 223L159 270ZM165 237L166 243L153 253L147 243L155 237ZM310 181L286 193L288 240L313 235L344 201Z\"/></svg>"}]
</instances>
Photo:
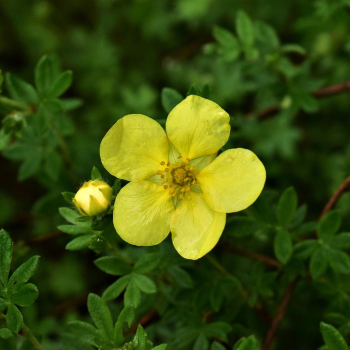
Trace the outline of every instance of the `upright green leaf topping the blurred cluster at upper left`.
<instances>
[{"instance_id":1,"label":"upright green leaf topping the blurred cluster at upper left","mask_svg":"<svg viewBox=\"0 0 350 350\"><path fill-rule=\"evenodd\" d=\"M51 87L57 76L57 69L51 57L43 55L35 66L35 86L39 96L42 98Z\"/></svg>"}]
</instances>

